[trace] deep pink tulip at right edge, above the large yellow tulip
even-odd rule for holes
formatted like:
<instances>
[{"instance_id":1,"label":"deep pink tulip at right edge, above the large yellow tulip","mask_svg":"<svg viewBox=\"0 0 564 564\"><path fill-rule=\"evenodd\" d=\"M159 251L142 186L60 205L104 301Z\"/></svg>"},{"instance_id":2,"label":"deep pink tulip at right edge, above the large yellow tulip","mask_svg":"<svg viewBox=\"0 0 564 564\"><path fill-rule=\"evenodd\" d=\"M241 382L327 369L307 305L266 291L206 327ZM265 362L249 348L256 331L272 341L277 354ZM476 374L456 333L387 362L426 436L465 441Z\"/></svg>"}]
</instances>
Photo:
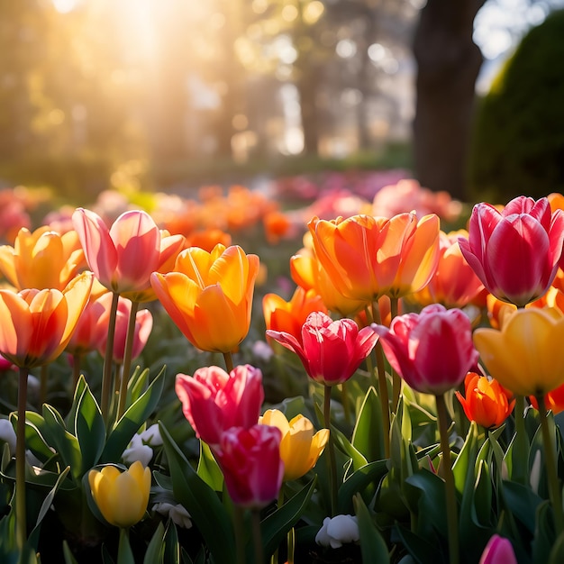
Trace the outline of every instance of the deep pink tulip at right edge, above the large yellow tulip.
<instances>
[{"instance_id":1,"label":"deep pink tulip at right edge, above the large yellow tulip","mask_svg":"<svg viewBox=\"0 0 564 564\"><path fill-rule=\"evenodd\" d=\"M487 290L519 307L543 296L559 267L564 212L550 211L548 198L519 196L498 211L490 204L472 210L468 239L460 250Z\"/></svg>"}]
</instances>

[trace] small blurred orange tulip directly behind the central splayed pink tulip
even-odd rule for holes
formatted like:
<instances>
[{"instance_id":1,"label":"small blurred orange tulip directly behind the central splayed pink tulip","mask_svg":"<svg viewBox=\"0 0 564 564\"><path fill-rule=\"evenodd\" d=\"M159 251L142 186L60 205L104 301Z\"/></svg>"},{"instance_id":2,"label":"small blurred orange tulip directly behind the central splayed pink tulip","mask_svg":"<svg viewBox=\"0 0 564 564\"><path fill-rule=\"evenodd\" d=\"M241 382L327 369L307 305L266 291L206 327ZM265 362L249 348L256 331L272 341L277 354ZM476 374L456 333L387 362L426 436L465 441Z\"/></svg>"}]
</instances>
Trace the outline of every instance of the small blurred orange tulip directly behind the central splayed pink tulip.
<instances>
[{"instance_id":1,"label":"small blurred orange tulip directly behind the central splayed pink tulip","mask_svg":"<svg viewBox=\"0 0 564 564\"><path fill-rule=\"evenodd\" d=\"M277 294L267 294L262 298L262 312L267 329L288 332L301 339L302 325L312 312L327 313L321 296L314 289L297 287L290 301ZM268 338L270 341L270 339Z\"/></svg>"}]
</instances>

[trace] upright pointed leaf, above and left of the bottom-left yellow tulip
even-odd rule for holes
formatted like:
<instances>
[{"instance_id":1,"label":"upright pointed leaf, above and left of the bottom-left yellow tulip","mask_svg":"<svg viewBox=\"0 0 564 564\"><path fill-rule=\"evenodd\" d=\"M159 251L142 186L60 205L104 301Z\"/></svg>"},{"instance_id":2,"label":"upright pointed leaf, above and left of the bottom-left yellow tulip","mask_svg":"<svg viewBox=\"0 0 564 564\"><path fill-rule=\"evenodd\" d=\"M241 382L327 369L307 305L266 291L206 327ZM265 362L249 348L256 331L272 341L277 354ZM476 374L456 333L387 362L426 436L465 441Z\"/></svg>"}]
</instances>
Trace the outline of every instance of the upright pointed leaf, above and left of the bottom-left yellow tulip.
<instances>
[{"instance_id":1,"label":"upright pointed leaf, above and left of the bottom-left yellow tulip","mask_svg":"<svg viewBox=\"0 0 564 564\"><path fill-rule=\"evenodd\" d=\"M78 400L74 427L86 471L96 465L105 446L104 417L87 385Z\"/></svg>"}]
</instances>

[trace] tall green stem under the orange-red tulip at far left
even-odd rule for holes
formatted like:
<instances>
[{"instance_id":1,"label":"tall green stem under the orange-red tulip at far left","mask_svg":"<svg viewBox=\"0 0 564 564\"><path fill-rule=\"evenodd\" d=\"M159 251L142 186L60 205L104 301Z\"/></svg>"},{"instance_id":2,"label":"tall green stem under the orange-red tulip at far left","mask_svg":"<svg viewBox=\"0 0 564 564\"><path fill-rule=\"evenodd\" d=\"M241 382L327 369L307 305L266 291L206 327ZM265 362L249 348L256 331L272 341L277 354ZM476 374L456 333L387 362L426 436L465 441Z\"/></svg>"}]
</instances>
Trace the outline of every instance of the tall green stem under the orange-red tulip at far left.
<instances>
[{"instance_id":1,"label":"tall green stem under the orange-red tulip at far left","mask_svg":"<svg viewBox=\"0 0 564 564\"><path fill-rule=\"evenodd\" d=\"M25 515L25 409L27 406L28 375L28 368L20 368L18 423L15 438L15 535L19 550L23 550L23 545L27 538L27 519Z\"/></svg>"}]
</instances>

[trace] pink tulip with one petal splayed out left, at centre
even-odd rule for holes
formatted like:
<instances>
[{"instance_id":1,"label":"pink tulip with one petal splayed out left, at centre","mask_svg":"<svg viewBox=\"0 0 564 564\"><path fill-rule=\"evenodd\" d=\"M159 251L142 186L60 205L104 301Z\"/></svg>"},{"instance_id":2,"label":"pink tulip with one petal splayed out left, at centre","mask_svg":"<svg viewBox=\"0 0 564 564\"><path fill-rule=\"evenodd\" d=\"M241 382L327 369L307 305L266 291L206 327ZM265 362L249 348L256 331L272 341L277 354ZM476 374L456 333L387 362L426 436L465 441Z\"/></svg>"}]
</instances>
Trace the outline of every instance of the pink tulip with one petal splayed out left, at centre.
<instances>
[{"instance_id":1,"label":"pink tulip with one petal splayed out left, at centre","mask_svg":"<svg viewBox=\"0 0 564 564\"><path fill-rule=\"evenodd\" d=\"M307 316L302 342L287 332L268 330L267 335L296 352L310 378L325 386L348 380L378 341L370 327L359 331L351 319L333 321L323 312Z\"/></svg>"}]
</instances>

